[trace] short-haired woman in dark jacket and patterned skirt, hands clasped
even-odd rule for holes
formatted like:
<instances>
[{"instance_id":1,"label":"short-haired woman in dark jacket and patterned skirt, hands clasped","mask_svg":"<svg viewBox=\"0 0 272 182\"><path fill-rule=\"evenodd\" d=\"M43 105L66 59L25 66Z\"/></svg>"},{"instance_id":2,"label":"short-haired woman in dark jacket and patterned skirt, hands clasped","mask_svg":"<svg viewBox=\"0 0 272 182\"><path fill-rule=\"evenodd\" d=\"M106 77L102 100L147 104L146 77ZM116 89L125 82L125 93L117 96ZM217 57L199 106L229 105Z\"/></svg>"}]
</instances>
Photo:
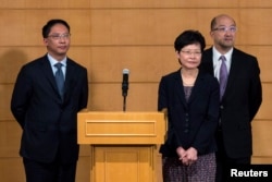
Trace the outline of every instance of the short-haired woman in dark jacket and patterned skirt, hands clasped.
<instances>
[{"instance_id":1,"label":"short-haired woman in dark jacket and patterned skirt, hands clasped","mask_svg":"<svg viewBox=\"0 0 272 182\"><path fill-rule=\"evenodd\" d=\"M162 76L158 110L168 116L168 139L161 146L164 182L212 182L215 177L214 132L219 121L218 80L198 70L206 47L197 31L174 43L181 69Z\"/></svg>"}]
</instances>

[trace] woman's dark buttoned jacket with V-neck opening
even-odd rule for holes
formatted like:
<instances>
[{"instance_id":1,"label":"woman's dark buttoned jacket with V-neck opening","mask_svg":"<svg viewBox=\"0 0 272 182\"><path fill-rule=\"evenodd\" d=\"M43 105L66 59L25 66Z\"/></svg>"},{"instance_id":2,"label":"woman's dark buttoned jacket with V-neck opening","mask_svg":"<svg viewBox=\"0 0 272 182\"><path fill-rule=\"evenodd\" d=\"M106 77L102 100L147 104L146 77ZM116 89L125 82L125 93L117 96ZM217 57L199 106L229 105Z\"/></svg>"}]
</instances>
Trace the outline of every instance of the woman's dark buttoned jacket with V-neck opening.
<instances>
[{"instance_id":1,"label":"woman's dark buttoned jacket with V-neck opening","mask_svg":"<svg viewBox=\"0 0 272 182\"><path fill-rule=\"evenodd\" d=\"M214 132L219 118L219 83L199 72L188 102L181 70L165 75L159 85L158 110L168 109L168 139L161 146L163 156L175 157L176 148L194 147L199 155L215 151Z\"/></svg>"}]
</instances>

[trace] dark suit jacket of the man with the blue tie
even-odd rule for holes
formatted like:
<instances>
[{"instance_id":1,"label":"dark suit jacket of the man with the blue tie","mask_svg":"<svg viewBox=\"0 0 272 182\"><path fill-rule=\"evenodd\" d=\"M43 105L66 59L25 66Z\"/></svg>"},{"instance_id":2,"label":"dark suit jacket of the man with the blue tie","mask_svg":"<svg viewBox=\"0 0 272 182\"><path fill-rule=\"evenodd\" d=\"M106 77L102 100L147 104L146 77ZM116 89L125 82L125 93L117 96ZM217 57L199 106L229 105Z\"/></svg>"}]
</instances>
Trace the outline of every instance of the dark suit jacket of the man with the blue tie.
<instances>
[{"instance_id":1,"label":"dark suit jacket of the man with the blue tie","mask_svg":"<svg viewBox=\"0 0 272 182\"><path fill-rule=\"evenodd\" d=\"M88 100L87 70L71 59L66 62L64 99L58 93L47 56L25 64L15 83L11 110L23 129L20 154L36 161L63 162L78 158L77 111Z\"/></svg>"}]
</instances>

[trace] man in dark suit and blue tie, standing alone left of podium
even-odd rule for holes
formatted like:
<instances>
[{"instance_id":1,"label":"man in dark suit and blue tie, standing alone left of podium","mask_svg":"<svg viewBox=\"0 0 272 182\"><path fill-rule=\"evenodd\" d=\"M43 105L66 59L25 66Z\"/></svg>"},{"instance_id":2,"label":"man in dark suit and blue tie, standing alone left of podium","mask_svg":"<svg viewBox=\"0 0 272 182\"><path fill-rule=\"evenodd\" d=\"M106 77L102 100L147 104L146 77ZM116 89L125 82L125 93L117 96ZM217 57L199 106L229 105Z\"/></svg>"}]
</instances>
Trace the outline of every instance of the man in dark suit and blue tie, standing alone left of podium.
<instances>
[{"instance_id":1,"label":"man in dark suit and blue tie, standing alone left of podium","mask_svg":"<svg viewBox=\"0 0 272 182\"><path fill-rule=\"evenodd\" d=\"M87 70L66 57L70 26L65 21L50 20L42 36L48 53L22 66L11 99L23 130L20 154L27 182L74 182L79 151L76 119L87 107Z\"/></svg>"}]
</instances>

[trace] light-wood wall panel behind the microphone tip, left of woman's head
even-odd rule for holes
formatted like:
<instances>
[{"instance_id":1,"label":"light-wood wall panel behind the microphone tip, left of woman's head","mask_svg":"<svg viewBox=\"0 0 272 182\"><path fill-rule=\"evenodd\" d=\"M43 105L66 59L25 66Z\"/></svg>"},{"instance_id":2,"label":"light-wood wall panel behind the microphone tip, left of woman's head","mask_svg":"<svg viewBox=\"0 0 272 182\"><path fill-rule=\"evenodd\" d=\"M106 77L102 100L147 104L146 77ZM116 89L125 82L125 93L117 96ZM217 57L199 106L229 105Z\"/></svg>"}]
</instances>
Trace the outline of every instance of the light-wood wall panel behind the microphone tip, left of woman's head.
<instances>
[{"instance_id":1,"label":"light-wood wall panel behind the microphone tip, left of woman's head","mask_svg":"<svg viewBox=\"0 0 272 182\"><path fill-rule=\"evenodd\" d=\"M107 46L90 51L95 83L121 82L123 69L129 70L131 82L159 82L161 75L180 68L173 46Z\"/></svg>"}]
</instances>

